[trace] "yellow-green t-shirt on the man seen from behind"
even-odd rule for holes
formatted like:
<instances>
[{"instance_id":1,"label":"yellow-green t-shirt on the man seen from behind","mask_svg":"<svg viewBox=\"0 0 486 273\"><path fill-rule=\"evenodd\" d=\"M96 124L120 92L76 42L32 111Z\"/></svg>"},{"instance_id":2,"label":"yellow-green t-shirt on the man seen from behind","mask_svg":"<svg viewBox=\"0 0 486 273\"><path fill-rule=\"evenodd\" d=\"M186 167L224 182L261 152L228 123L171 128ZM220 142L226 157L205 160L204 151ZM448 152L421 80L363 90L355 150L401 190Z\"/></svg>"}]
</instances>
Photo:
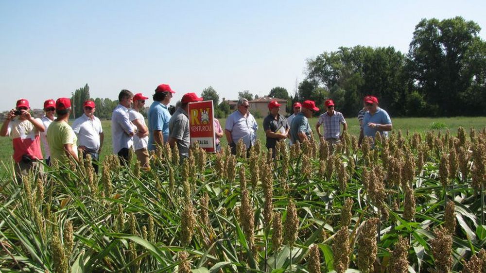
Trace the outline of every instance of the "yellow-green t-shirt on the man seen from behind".
<instances>
[{"instance_id":1,"label":"yellow-green t-shirt on the man seen from behind","mask_svg":"<svg viewBox=\"0 0 486 273\"><path fill-rule=\"evenodd\" d=\"M76 142L78 138L71 126L64 121L54 121L47 129L47 142L51 150L51 161L57 159L59 163L66 163L68 156L64 152L64 144L72 144L74 153L78 154Z\"/></svg>"}]
</instances>

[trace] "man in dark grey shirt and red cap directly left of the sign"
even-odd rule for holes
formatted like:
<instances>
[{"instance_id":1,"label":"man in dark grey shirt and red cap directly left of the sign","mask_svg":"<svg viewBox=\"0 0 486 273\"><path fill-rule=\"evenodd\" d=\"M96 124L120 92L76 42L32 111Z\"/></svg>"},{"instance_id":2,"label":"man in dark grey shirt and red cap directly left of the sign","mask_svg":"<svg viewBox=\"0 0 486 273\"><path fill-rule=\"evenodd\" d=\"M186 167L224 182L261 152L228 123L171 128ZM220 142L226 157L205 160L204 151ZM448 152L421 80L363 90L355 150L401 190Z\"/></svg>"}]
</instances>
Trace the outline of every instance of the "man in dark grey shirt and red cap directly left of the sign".
<instances>
[{"instance_id":1,"label":"man in dark grey shirt and red cap directly left of the sign","mask_svg":"<svg viewBox=\"0 0 486 273\"><path fill-rule=\"evenodd\" d=\"M200 102L202 100L203 98L199 98L195 93L184 94L181 106L175 109L174 116L169 121L169 145L174 147L177 144L180 162L184 158L189 157L189 147L191 146L188 116L189 102Z\"/></svg>"}]
</instances>

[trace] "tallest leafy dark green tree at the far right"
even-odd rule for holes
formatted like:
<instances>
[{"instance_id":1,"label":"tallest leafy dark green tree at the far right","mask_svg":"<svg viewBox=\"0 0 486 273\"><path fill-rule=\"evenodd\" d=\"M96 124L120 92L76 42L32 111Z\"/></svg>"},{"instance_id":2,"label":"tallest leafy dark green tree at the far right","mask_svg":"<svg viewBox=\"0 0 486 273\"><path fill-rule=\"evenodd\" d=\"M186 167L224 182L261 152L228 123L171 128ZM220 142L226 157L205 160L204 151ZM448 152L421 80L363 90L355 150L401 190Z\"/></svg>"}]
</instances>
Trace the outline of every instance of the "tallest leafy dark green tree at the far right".
<instances>
[{"instance_id":1,"label":"tallest leafy dark green tree at the far right","mask_svg":"<svg viewBox=\"0 0 486 273\"><path fill-rule=\"evenodd\" d=\"M485 113L484 108L466 107L479 106L478 98L471 98L470 92L482 89L475 78L485 66L471 66L486 57L480 31L477 23L463 17L422 19L415 27L409 48L411 77L425 101L437 109L437 115Z\"/></svg>"}]
</instances>

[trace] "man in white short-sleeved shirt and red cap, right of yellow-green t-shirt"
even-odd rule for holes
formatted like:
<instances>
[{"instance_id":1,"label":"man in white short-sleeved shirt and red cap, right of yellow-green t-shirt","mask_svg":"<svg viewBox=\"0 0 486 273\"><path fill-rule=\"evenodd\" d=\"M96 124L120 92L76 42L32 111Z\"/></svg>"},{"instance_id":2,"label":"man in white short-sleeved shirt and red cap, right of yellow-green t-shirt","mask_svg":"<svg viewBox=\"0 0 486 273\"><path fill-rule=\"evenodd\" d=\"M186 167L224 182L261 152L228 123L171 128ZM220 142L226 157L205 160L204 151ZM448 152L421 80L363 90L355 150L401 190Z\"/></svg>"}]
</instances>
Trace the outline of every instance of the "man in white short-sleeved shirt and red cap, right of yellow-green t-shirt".
<instances>
[{"instance_id":1,"label":"man in white short-sleeved shirt and red cap, right of yellow-green t-shirt","mask_svg":"<svg viewBox=\"0 0 486 273\"><path fill-rule=\"evenodd\" d=\"M104 134L100 119L94 116L95 110L96 105L93 101L84 102L84 114L74 120L71 127L78 137L78 149L83 151L83 158L90 154L94 171L98 173L98 158L103 146Z\"/></svg>"}]
</instances>

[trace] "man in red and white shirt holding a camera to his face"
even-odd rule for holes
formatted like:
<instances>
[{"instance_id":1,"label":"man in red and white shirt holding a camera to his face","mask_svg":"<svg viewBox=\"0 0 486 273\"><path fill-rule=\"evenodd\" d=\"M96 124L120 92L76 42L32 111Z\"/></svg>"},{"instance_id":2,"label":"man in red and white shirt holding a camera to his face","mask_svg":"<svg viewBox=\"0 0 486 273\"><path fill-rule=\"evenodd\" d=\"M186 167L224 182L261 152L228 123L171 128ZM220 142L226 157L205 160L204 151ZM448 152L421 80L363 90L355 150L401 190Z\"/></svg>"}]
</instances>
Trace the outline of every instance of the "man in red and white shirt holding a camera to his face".
<instances>
[{"instance_id":1,"label":"man in red and white shirt holding a camera to his face","mask_svg":"<svg viewBox=\"0 0 486 273\"><path fill-rule=\"evenodd\" d=\"M31 116L29 110L29 101L18 100L16 109L10 110L0 129L0 136L12 138L18 183L22 183L22 175L27 175L29 171L43 170L43 165L39 162L42 160L39 133L44 132L45 128L39 119Z\"/></svg>"}]
</instances>

